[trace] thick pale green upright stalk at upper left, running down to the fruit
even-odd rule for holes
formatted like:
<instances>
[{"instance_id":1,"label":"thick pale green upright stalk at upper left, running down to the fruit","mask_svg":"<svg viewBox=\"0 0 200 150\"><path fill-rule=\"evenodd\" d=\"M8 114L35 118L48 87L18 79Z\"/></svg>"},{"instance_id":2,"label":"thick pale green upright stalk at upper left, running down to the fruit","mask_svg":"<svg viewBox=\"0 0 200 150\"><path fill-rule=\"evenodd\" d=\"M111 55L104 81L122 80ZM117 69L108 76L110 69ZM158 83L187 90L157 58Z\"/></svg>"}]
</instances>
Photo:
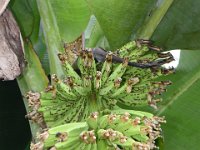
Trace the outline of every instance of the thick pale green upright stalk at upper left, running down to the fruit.
<instances>
[{"instance_id":1,"label":"thick pale green upright stalk at upper left, running down to the fruit","mask_svg":"<svg viewBox=\"0 0 200 150\"><path fill-rule=\"evenodd\" d=\"M52 6L48 0L37 0L37 4L48 49L50 72L62 77L64 72L57 55L62 53L64 48L61 45L61 37Z\"/></svg>"}]
</instances>

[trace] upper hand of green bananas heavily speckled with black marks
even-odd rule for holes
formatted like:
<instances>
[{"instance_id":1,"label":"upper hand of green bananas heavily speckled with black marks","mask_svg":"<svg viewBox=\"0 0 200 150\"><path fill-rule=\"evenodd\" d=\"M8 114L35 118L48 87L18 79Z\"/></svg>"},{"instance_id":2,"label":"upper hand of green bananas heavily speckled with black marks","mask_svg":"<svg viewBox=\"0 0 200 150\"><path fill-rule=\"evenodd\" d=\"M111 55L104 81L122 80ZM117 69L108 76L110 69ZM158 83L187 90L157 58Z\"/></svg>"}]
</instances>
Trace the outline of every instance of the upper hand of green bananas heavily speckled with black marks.
<instances>
[{"instance_id":1,"label":"upper hand of green bananas heavily speckled with black marks","mask_svg":"<svg viewBox=\"0 0 200 150\"><path fill-rule=\"evenodd\" d=\"M58 57L66 71L66 77L59 79L52 75L52 85L40 93L27 93L31 111L27 118L41 127L55 127L69 122L84 121L91 112L112 110L127 106L150 105L156 108L160 99L156 95L166 91L170 81L154 82L159 76L172 73L161 64L172 60L171 54L150 50L145 42L133 41L118 50L122 63L113 63L112 52L106 55L100 67L95 62L92 49L79 52L76 61L79 72L68 62L66 55ZM161 58L162 56L162 58ZM142 60L149 68L130 66L130 60ZM149 61L151 60L151 62Z\"/></svg>"}]
</instances>

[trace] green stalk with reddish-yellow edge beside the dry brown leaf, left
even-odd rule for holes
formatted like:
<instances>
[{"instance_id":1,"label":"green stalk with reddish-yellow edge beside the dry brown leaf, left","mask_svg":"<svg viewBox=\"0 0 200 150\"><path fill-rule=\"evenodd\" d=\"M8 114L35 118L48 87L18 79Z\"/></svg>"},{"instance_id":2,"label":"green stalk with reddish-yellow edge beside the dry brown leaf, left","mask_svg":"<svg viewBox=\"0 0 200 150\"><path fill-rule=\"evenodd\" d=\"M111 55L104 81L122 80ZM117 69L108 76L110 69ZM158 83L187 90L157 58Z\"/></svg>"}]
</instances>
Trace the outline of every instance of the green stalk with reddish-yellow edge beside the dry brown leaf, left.
<instances>
[{"instance_id":1,"label":"green stalk with reddish-yellow edge beside the dry brown leaf, left","mask_svg":"<svg viewBox=\"0 0 200 150\"><path fill-rule=\"evenodd\" d=\"M44 90L48 85L48 79L42 69L40 61L35 54L30 42L25 42L24 45L25 58L27 66L24 69L21 76L17 78L19 88L22 95L25 95L28 91L41 91ZM27 99L24 99L26 111L29 112ZM31 133L33 138L36 137L36 132L39 131L40 127L35 123L30 123Z\"/></svg>"}]
</instances>

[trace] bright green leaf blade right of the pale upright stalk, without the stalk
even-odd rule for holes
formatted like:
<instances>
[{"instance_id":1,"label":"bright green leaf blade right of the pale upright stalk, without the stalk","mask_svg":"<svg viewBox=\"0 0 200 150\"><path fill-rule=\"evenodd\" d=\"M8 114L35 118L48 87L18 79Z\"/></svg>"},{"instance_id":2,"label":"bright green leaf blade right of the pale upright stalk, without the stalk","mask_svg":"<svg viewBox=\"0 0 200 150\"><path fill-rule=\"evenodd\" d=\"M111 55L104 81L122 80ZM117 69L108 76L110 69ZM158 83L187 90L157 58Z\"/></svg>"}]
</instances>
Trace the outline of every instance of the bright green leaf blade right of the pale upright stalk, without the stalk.
<instances>
[{"instance_id":1,"label":"bright green leaf blade right of the pale upright stalk, without the stalk","mask_svg":"<svg viewBox=\"0 0 200 150\"><path fill-rule=\"evenodd\" d=\"M84 0L50 0L61 38L72 42L85 30L90 11Z\"/></svg>"}]
</instances>

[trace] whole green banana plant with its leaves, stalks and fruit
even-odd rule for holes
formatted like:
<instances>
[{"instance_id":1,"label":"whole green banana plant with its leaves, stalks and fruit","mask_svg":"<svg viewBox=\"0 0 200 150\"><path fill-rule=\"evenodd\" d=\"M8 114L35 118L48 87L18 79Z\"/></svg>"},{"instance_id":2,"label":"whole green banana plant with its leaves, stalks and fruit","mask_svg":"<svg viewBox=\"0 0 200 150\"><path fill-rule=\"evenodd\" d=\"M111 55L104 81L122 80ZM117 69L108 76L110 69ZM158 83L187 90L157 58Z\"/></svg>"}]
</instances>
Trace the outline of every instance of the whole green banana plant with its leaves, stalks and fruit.
<instances>
[{"instance_id":1,"label":"whole green banana plant with its leaves, stalks and fruit","mask_svg":"<svg viewBox=\"0 0 200 150\"><path fill-rule=\"evenodd\" d=\"M31 149L198 149L199 4L11 0ZM173 57L163 51L173 49L181 55L170 74L162 65Z\"/></svg>"}]
</instances>

